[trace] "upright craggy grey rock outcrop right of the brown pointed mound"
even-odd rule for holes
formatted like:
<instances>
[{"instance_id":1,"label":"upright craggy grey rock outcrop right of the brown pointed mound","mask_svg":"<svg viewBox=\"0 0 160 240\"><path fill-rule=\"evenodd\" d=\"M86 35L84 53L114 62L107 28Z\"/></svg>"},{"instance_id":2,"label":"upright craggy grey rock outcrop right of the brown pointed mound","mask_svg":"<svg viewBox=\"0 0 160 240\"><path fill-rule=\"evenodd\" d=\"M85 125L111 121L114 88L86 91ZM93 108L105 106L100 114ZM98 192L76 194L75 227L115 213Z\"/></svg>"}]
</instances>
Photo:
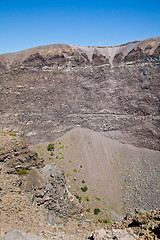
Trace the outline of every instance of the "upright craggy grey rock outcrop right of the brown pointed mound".
<instances>
[{"instance_id":1,"label":"upright craggy grey rock outcrop right of the brown pointed mound","mask_svg":"<svg viewBox=\"0 0 160 240\"><path fill-rule=\"evenodd\" d=\"M65 223L68 220L68 193L64 172L54 165L45 166L41 172L44 184L36 188L34 200L38 206L44 206L50 224Z\"/></svg>"}]
</instances>

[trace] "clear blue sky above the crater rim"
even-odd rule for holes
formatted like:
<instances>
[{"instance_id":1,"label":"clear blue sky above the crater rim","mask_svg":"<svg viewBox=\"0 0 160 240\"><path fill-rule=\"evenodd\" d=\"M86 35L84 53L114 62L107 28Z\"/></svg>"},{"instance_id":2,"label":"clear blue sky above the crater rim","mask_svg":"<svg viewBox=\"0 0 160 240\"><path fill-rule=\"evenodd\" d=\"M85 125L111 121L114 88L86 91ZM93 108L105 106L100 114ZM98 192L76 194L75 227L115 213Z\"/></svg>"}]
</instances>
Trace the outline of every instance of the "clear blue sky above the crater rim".
<instances>
[{"instance_id":1,"label":"clear blue sky above the crater rim","mask_svg":"<svg viewBox=\"0 0 160 240\"><path fill-rule=\"evenodd\" d=\"M160 36L160 0L0 0L0 53Z\"/></svg>"}]
</instances>

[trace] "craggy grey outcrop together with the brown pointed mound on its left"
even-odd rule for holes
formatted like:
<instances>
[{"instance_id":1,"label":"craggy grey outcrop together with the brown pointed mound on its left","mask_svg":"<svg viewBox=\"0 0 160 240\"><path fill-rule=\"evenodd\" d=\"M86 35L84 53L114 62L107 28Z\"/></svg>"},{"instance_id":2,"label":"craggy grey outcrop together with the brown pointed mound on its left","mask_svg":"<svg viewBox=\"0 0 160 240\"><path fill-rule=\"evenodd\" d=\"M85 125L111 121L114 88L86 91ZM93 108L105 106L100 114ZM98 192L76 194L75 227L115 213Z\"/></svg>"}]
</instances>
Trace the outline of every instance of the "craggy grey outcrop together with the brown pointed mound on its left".
<instances>
[{"instance_id":1,"label":"craggy grey outcrop together with the brown pointed mound on its left","mask_svg":"<svg viewBox=\"0 0 160 240\"><path fill-rule=\"evenodd\" d=\"M79 218L81 204L68 192L64 172L55 165L46 165L41 172L33 168L22 189L33 194L32 204L45 209L48 223L66 223L69 216Z\"/></svg>"}]
</instances>

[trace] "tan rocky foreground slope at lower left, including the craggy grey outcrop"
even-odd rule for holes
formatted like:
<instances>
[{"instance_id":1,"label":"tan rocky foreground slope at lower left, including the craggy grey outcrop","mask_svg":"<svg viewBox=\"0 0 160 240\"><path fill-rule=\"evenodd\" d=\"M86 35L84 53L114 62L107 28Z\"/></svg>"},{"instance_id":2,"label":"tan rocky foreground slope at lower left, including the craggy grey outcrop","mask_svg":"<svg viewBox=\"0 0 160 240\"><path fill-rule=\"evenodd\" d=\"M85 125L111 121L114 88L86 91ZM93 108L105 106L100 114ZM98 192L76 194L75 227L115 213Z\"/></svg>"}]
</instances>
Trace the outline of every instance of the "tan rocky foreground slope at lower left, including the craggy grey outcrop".
<instances>
[{"instance_id":1,"label":"tan rocky foreground slope at lower left, including the craggy grey outcrop","mask_svg":"<svg viewBox=\"0 0 160 240\"><path fill-rule=\"evenodd\" d=\"M26 157L26 153L21 152L22 146L28 149L22 138L6 132L1 133L0 137L2 156L20 152L18 161ZM15 151L15 145L18 151ZM27 153L29 156L33 152L28 149ZM13 164L16 162L15 154L1 162L0 235L4 236L0 236L0 239L40 239L40 236L43 239L65 237L66 240L80 239L82 236L84 239L91 226L86 222L83 229L78 228L81 205L77 200L71 201L72 195L66 189L64 172L54 165L43 167L37 153L36 156L36 161L30 157L27 165L24 162L18 168ZM25 235L11 231L13 229L23 231Z\"/></svg>"}]
</instances>

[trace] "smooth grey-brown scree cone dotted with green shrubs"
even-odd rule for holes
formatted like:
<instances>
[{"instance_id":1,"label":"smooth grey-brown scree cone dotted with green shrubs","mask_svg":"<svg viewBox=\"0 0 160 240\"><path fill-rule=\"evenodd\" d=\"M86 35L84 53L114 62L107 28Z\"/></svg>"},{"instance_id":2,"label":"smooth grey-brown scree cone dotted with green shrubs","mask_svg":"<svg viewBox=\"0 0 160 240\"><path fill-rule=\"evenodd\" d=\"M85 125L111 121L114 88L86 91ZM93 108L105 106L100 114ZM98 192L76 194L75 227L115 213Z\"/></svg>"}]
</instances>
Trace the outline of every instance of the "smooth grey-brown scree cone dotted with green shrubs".
<instances>
[{"instance_id":1,"label":"smooth grey-brown scree cone dotted with green shrubs","mask_svg":"<svg viewBox=\"0 0 160 240\"><path fill-rule=\"evenodd\" d=\"M54 151L47 151L47 145L32 149L63 169L67 188L82 202L85 217L121 220L138 207L160 208L159 151L121 144L81 128L57 139ZM101 211L97 215L96 208Z\"/></svg>"}]
</instances>

